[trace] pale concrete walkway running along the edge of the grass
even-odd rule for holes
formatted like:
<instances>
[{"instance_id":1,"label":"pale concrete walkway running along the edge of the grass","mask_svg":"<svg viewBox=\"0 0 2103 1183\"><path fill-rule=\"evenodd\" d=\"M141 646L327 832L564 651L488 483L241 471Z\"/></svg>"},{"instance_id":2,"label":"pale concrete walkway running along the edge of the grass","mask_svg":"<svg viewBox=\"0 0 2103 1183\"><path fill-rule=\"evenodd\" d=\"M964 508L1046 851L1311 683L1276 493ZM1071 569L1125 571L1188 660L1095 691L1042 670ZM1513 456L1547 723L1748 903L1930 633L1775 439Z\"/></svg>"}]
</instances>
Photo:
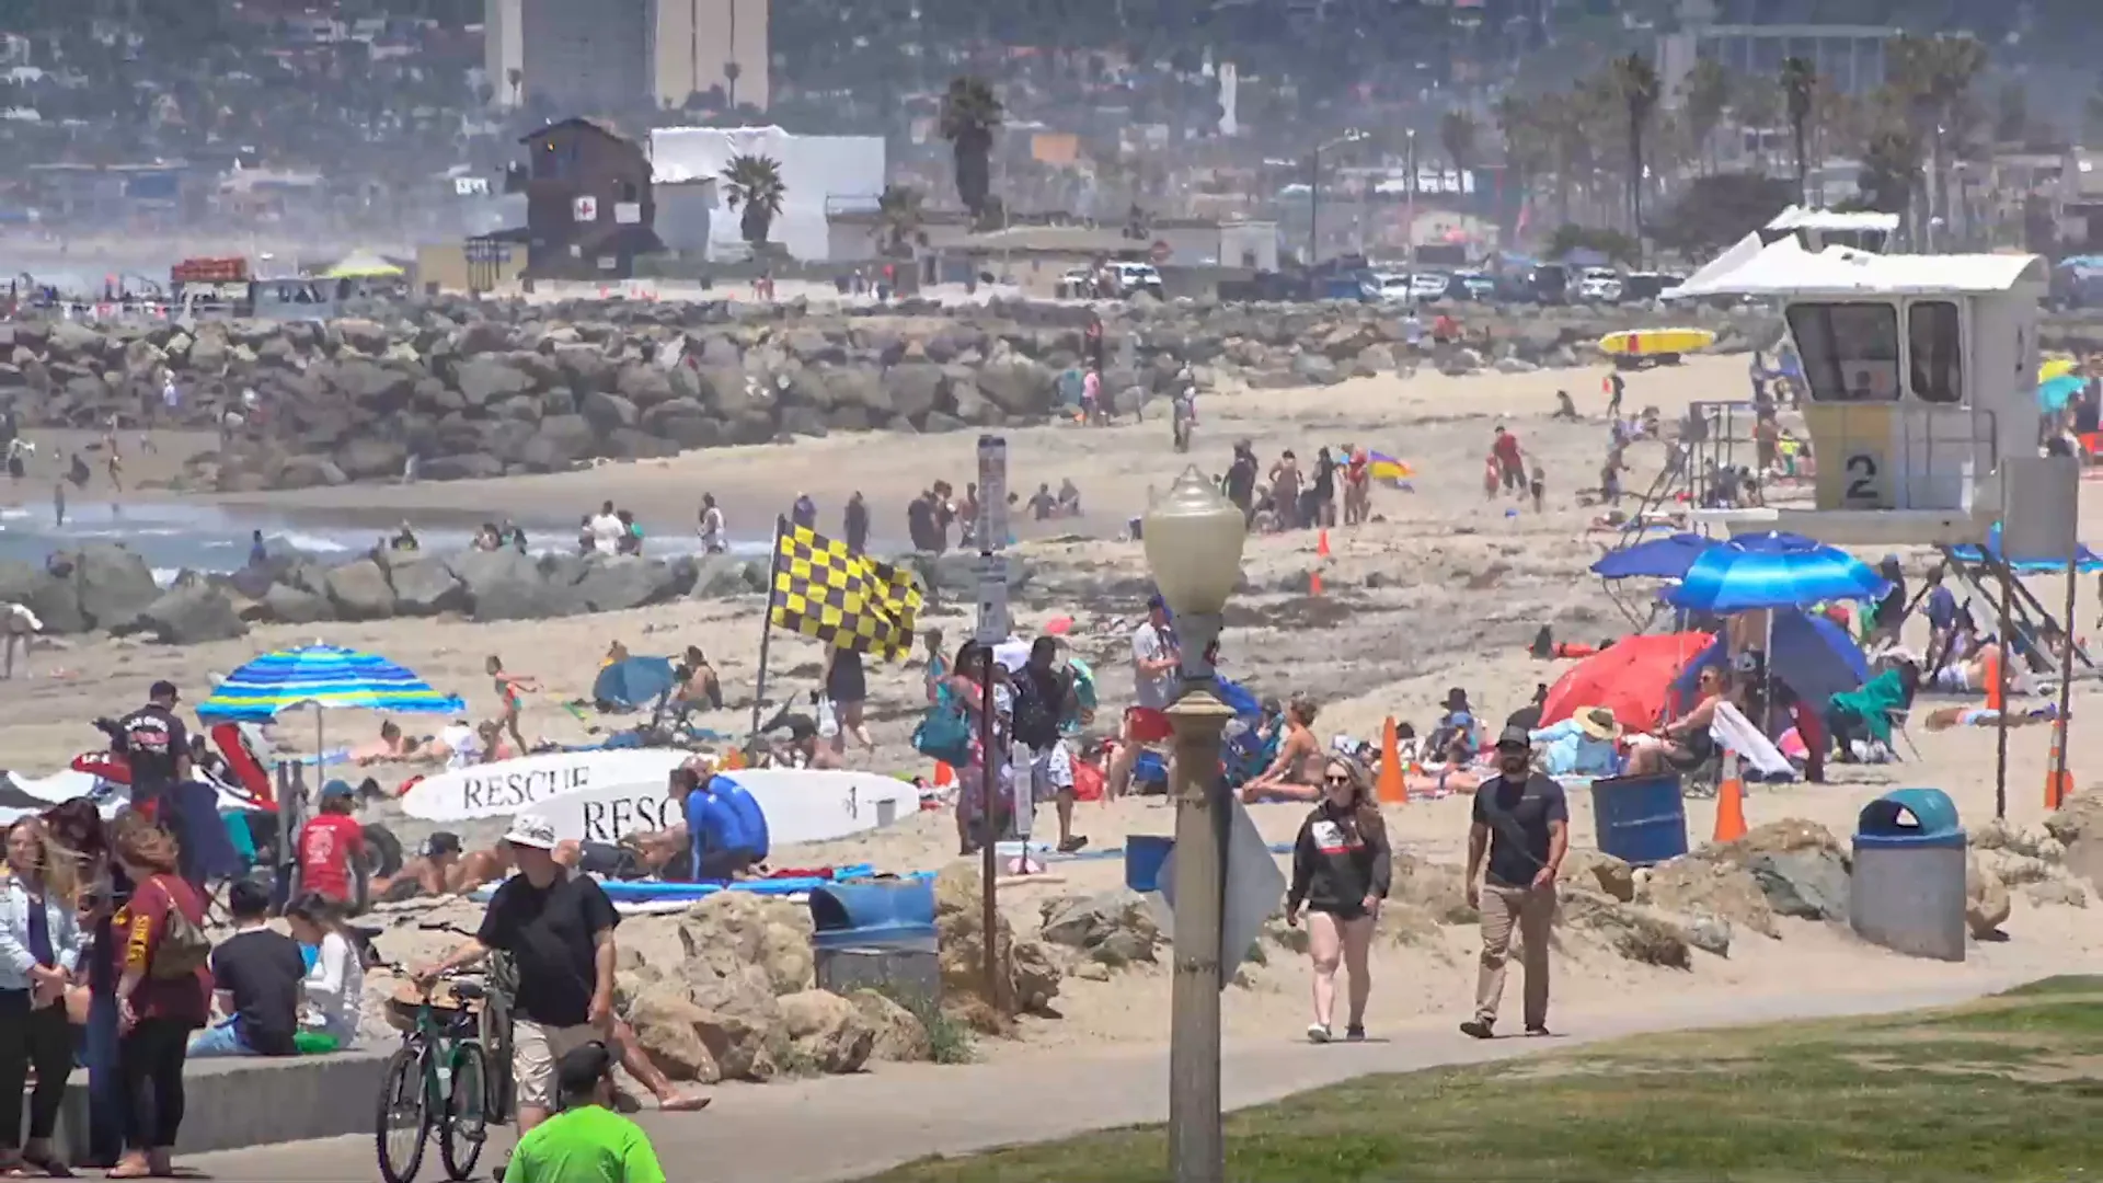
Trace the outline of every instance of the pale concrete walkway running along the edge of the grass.
<instances>
[{"instance_id":1,"label":"pale concrete walkway running along the edge of the grass","mask_svg":"<svg viewBox=\"0 0 2103 1183\"><path fill-rule=\"evenodd\" d=\"M1922 991L1762 996L1674 1004L1640 1015L1563 1015L1554 1040L1476 1042L1451 1021L1415 1023L1365 1044L1310 1046L1298 1040L1228 1044L1224 1099L1230 1109L1262 1105L1354 1076L1483 1063L1598 1040L1788 1019L1880 1015L1966 1002L2021 985L1968 979ZM1382 1036L1382 1031L1375 1031ZM673 1179L709 1183L833 1183L860 1179L932 1154L957 1156L997 1145L1049 1141L1087 1130L1167 1120L1167 1050L1056 1050L1001 1055L965 1067L881 1065L768 1086L728 1086L698 1116L644 1114ZM343 1097L345 1105L370 1105ZM488 1166L509 1154L509 1130L492 1137ZM368 1183L376 1177L370 1137L286 1143L181 1160L223 1183ZM431 1145L421 1179L440 1179Z\"/></svg>"}]
</instances>

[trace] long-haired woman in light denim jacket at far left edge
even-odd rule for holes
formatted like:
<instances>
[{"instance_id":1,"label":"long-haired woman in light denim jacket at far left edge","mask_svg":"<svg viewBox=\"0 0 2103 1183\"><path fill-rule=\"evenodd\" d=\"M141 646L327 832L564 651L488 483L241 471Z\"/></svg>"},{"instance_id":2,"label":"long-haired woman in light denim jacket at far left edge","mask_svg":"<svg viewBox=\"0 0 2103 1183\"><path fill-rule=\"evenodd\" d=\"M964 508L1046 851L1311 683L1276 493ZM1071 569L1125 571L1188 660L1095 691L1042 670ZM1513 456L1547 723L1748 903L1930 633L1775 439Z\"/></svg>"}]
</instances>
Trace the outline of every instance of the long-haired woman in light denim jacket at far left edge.
<instances>
[{"instance_id":1,"label":"long-haired woman in light denim jacket at far left edge","mask_svg":"<svg viewBox=\"0 0 2103 1183\"><path fill-rule=\"evenodd\" d=\"M55 848L36 817L6 829L8 878L0 893L0 1097L21 1097L36 1065L29 1099L29 1141L21 1141L21 1109L0 1105L0 1172L36 1166L63 1170L50 1147L74 1071L74 1034L65 1019L65 987L80 962L74 916L74 861Z\"/></svg>"}]
</instances>

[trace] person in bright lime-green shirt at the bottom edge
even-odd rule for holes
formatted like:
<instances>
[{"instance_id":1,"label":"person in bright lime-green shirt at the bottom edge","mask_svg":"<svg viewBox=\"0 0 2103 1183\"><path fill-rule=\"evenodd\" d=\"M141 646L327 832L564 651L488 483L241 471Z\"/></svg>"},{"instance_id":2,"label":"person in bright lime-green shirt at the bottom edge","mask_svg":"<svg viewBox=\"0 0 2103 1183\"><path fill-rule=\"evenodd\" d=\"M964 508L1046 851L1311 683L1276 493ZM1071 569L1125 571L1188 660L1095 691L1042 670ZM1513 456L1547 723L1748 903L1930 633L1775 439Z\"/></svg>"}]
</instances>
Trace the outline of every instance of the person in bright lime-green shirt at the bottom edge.
<instances>
[{"instance_id":1,"label":"person in bright lime-green shirt at the bottom edge","mask_svg":"<svg viewBox=\"0 0 2103 1183\"><path fill-rule=\"evenodd\" d=\"M665 1183L641 1126L614 1105L614 1052L591 1042L555 1063L562 1111L519 1139L505 1183Z\"/></svg>"}]
</instances>

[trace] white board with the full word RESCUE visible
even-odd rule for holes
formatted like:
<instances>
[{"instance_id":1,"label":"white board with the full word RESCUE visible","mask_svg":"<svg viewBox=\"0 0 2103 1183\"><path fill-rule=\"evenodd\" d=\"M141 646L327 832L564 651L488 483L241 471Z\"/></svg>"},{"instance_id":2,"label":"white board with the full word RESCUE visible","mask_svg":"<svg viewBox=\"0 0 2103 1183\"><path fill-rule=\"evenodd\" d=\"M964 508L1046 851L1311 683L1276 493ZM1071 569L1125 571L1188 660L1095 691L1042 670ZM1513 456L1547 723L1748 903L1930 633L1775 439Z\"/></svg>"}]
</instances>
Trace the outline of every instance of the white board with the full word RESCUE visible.
<instances>
[{"instance_id":1,"label":"white board with the full word RESCUE visible","mask_svg":"<svg viewBox=\"0 0 2103 1183\"><path fill-rule=\"evenodd\" d=\"M511 817L570 794L662 800L665 779L690 756L671 747L612 747L473 764L416 781L402 794L402 813L423 821L471 821Z\"/></svg>"}]
</instances>

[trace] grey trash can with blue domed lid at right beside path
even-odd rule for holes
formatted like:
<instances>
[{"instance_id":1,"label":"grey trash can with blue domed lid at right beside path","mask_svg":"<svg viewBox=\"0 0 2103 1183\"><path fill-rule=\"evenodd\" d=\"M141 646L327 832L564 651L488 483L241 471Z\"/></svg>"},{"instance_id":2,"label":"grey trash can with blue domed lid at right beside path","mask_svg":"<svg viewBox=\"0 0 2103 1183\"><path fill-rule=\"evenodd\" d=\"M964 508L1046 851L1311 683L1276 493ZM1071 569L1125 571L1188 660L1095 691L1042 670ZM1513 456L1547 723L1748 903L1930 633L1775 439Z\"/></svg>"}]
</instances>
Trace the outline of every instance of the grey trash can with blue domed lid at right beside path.
<instances>
[{"instance_id":1,"label":"grey trash can with blue domed lid at right beside path","mask_svg":"<svg viewBox=\"0 0 2103 1183\"><path fill-rule=\"evenodd\" d=\"M1914 958L1964 960L1964 855L1958 806L1941 789L1897 789L1855 819L1849 922Z\"/></svg>"}]
</instances>

